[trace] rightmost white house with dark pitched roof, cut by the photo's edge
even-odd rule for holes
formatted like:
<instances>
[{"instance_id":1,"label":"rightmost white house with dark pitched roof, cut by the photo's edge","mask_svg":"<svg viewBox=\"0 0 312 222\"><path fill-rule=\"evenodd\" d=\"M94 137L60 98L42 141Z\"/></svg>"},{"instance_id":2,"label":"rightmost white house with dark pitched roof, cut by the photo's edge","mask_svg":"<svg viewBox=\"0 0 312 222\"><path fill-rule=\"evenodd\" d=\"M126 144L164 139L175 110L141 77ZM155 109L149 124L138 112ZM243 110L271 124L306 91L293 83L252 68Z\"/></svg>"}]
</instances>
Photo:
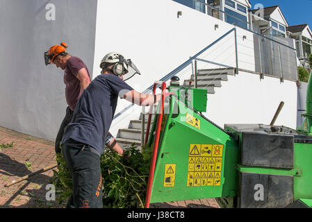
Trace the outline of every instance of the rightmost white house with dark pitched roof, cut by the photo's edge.
<instances>
[{"instance_id":1,"label":"rightmost white house with dark pitched roof, cut by the photo's edge","mask_svg":"<svg viewBox=\"0 0 312 222\"><path fill-rule=\"evenodd\" d=\"M306 66L306 60L312 53L312 32L308 24L287 27L289 37L295 39L297 57L302 65Z\"/></svg>"}]
</instances>

